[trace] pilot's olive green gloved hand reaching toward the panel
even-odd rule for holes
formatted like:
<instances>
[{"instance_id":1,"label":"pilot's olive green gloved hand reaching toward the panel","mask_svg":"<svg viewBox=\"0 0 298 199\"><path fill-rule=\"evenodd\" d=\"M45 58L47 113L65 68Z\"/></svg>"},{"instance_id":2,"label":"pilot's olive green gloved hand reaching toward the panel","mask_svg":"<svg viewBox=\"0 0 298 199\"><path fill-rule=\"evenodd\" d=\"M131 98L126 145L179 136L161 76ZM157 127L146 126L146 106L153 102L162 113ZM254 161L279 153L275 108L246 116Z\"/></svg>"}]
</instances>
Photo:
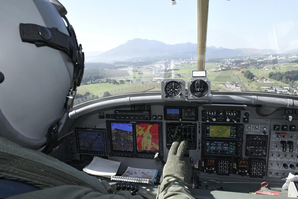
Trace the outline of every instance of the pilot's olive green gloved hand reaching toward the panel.
<instances>
[{"instance_id":1,"label":"pilot's olive green gloved hand reaching toward the panel","mask_svg":"<svg viewBox=\"0 0 298 199\"><path fill-rule=\"evenodd\" d=\"M192 177L192 167L189 165L189 158L183 157L187 149L187 141L173 142L169 151L167 163L163 171L163 178L171 177L189 184Z\"/></svg>"}]
</instances>

